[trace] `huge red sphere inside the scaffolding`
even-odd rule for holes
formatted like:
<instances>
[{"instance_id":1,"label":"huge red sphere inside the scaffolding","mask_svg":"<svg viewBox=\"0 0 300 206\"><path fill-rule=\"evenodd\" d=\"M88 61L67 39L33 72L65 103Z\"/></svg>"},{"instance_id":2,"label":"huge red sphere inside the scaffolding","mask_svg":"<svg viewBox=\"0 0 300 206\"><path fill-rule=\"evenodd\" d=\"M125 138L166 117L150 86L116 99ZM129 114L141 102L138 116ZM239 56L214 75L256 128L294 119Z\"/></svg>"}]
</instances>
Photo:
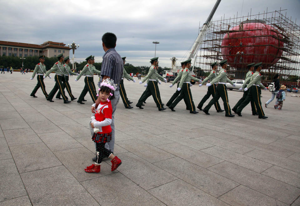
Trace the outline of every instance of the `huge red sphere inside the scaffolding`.
<instances>
[{"instance_id":1,"label":"huge red sphere inside the scaffolding","mask_svg":"<svg viewBox=\"0 0 300 206\"><path fill-rule=\"evenodd\" d=\"M234 68L245 68L252 62L263 62L264 68L268 68L282 55L282 35L270 25L244 21L231 31L236 32L226 33L222 46L227 47L222 47L221 52L223 59Z\"/></svg>"}]
</instances>

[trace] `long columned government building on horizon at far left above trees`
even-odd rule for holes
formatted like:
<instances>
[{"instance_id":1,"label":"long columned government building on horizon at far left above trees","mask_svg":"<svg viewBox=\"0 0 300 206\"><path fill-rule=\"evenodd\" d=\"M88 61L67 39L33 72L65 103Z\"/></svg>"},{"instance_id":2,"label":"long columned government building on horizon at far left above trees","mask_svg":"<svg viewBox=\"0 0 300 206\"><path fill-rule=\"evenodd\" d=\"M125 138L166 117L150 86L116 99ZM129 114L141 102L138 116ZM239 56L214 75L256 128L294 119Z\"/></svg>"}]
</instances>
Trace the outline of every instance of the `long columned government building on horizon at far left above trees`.
<instances>
[{"instance_id":1,"label":"long columned government building on horizon at far left above trees","mask_svg":"<svg viewBox=\"0 0 300 206\"><path fill-rule=\"evenodd\" d=\"M0 41L1 56L41 56L56 57L63 53L64 56L69 56L71 47L66 47L66 44L60 42L47 41L40 45L27 44L20 42Z\"/></svg>"}]
</instances>

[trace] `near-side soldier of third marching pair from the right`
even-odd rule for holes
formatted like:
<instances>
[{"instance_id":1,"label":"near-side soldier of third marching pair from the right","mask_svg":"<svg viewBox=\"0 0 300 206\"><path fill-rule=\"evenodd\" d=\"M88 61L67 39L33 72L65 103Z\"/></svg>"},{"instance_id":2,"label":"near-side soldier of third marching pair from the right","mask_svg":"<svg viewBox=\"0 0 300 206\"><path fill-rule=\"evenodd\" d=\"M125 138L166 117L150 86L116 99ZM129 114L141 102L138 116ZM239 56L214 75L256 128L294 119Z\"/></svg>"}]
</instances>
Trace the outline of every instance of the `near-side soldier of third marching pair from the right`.
<instances>
[{"instance_id":1,"label":"near-side soldier of third marching pair from the right","mask_svg":"<svg viewBox=\"0 0 300 206\"><path fill-rule=\"evenodd\" d=\"M197 79L196 77L191 76L190 74L190 68L191 68L191 61L192 59L189 59L187 61L184 61L185 68L183 70L179 86L177 88L178 91L180 91L180 95L175 99L175 101L169 106L169 108L172 111L174 110L174 107L181 101L182 99L185 99L185 102L187 103L187 108L190 109L190 113L197 114L198 112L195 110L194 101L192 98L192 93L190 89L191 79L195 81L201 82L200 79ZM182 88L182 90L181 90Z\"/></svg>"}]
</instances>

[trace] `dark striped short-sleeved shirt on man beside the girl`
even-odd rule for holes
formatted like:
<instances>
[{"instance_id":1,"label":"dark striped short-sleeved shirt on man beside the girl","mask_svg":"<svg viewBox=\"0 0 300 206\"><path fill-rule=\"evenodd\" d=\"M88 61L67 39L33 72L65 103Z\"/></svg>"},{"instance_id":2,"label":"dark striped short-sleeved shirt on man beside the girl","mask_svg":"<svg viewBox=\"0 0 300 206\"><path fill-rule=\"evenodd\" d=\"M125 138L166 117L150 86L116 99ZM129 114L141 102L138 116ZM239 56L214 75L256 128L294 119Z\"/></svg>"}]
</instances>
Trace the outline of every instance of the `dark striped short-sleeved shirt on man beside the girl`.
<instances>
[{"instance_id":1,"label":"dark striped short-sleeved shirt on man beside the girl","mask_svg":"<svg viewBox=\"0 0 300 206\"><path fill-rule=\"evenodd\" d=\"M116 91L118 91L120 81L123 76L123 59L114 48L108 49L102 58L101 76L109 76L110 79L112 79L114 83L118 85L118 88L116 89ZM98 86L100 85L101 81L102 78L98 82Z\"/></svg>"}]
</instances>

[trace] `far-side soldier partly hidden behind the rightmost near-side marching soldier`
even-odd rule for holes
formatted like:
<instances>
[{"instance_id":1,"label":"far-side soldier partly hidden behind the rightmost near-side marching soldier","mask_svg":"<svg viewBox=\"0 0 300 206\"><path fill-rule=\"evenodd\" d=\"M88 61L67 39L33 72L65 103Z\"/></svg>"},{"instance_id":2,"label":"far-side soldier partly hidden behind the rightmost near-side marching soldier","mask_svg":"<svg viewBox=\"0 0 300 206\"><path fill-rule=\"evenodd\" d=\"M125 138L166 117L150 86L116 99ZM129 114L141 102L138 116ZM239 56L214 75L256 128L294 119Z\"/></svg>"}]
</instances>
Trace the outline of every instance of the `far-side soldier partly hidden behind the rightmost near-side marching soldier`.
<instances>
[{"instance_id":1,"label":"far-side soldier partly hidden behind the rightmost near-side marching soldier","mask_svg":"<svg viewBox=\"0 0 300 206\"><path fill-rule=\"evenodd\" d=\"M247 65L249 71L246 74L246 78L245 78L244 84L238 90L242 91L242 89L244 89L248 85L248 83L250 82L250 79L251 79L251 77L253 75L254 65L255 65L255 63L251 63L251 64ZM237 102L236 105L234 105L234 107L232 108L232 111L234 111L234 113L237 113L237 108L246 99L246 97L248 95L248 92L249 92L249 90L244 91L244 94L243 94L242 98ZM251 102L252 115L258 115L254 101L251 100L250 102Z\"/></svg>"}]
</instances>

